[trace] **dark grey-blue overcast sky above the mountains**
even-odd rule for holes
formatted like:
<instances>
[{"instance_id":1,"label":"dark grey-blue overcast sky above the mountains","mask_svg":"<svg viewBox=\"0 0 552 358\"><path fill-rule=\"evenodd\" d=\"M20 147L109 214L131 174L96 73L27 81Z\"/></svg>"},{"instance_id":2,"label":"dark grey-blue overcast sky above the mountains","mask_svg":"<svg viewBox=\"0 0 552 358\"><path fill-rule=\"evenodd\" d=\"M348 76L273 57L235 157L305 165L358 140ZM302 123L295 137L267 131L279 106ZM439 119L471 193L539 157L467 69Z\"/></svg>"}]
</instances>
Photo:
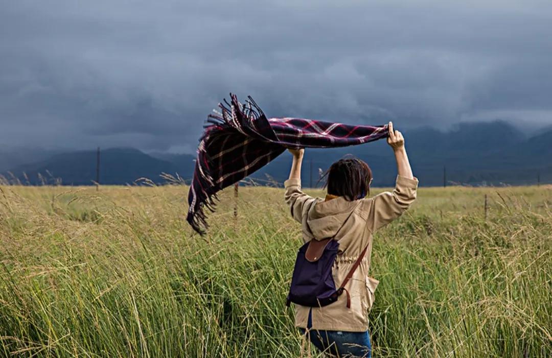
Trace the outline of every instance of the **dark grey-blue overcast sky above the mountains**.
<instances>
[{"instance_id":1,"label":"dark grey-blue overcast sky above the mountains","mask_svg":"<svg viewBox=\"0 0 552 358\"><path fill-rule=\"evenodd\" d=\"M0 0L0 145L192 152L268 116L552 124L552 1Z\"/></svg>"}]
</instances>

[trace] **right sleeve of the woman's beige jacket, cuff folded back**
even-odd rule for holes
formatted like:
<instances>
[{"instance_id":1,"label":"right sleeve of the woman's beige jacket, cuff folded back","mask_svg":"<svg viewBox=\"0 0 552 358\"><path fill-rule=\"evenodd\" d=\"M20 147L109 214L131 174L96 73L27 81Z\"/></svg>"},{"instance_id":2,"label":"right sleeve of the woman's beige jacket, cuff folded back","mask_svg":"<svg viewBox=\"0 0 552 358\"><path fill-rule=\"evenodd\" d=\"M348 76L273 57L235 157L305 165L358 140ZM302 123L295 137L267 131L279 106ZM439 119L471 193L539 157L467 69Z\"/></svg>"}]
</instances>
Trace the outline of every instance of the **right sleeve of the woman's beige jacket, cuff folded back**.
<instances>
[{"instance_id":1,"label":"right sleeve of the woman's beige jacket, cuff folded back","mask_svg":"<svg viewBox=\"0 0 552 358\"><path fill-rule=\"evenodd\" d=\"M384 191L369 199L363 199L362 212L371 232L387 225L401 216L416 200L418 178L414 179L397 175L395 189Z\"/></svg>"}]
</instances>

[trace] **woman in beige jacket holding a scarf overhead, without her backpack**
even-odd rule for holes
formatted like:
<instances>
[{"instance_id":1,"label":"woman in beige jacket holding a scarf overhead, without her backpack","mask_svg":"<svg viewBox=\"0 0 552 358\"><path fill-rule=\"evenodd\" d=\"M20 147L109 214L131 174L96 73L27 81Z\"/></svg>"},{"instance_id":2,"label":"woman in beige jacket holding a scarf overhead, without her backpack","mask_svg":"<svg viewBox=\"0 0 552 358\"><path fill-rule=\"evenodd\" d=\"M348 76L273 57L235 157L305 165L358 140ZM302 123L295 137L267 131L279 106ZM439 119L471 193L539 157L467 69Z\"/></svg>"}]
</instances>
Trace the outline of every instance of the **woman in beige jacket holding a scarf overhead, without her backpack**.
<instances>
[{"instance_id":1,"label":"woman in beige jacket holding a scarf overhead, without her backpack","mask_svg":"<svg viewBox=\"0 0 552 358\"><path fill-rule=\"evenodd\" d=\"M293 164L284 182L285 201L291 215L301 223L304 242L334 237L339 252L332 269L336 285L341 284L364 248L365 257L348 282L351 307L346 295L325 307L295 305L295 326L309 336L320 350L337 356L370 357L368 311L374 303L379 281L368 276L372 236L376 230L401 216L416 199L418 179L413 177L401 132L389 122L388 143L395 153L395 189L374 197L369 195L372 180L368 164L360 159L341 159L327 172L325 199L301 191L301 162L304 149L289 149Z\"/></svg>"}]
</instances>

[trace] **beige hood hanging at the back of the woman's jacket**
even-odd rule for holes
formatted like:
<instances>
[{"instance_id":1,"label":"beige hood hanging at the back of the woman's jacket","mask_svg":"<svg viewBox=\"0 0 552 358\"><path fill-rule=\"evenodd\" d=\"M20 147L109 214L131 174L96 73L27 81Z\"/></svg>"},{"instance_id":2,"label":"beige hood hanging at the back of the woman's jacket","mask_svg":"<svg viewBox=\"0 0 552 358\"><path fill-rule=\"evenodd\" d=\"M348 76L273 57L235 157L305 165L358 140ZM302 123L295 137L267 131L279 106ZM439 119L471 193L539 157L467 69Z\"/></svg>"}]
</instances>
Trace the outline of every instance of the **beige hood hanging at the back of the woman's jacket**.
<instances>
[{"instance_id":1,"label":"beige hood hanging at the back of the woman's jacket","mask_svg":"<svg viewBox=\"0 0 552 358\"><path fill-rule=\"evenodd\" d=\"M343 196L327 201L319 199L307 215L310 234L317 239L335 236L357 204L357 200L348 201Z\"/></svg>"}]
</instances>

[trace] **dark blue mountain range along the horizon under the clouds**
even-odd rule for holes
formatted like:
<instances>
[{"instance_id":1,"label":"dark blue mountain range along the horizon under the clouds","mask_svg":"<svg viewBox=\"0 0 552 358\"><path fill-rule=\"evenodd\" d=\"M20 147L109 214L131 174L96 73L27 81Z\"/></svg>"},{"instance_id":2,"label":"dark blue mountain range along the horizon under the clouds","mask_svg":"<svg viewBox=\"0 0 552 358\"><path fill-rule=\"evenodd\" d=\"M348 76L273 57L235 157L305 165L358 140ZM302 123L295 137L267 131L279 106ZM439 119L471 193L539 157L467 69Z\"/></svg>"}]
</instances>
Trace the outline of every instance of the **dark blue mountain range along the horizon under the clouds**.
<instances>
[{"instance_id":1,"label":"dark blue mountain range along the horizon under the clouds","mask_svg":"<svg viewBox=\"0 0 552 358\"><path fill-rule=\"evenodd\" d=\"M404 131L408 157L421 186L450 184L521 185L552 183L552 129L527 135L505 121L463 123L448 132L431 127ZM1 150L1 149L0 149ZM374 173L374 186L394 184L396 165L384 140L362 146L333 149L306 149L302 172L303 186L316 184L320 170L335 160L352 154L366 161ZM20 156L22 157L22 156ZM13 152L0 151L0 158L13 164ZM0 173L22 184L91 185L96 178L96 151L44 153L26 163L11 165ZM21 158L19 158L21 159ZM100 155L101 184L134 184L139 178L156 183L161 173L192 178L195 156L190 154L146 154L134 148L104 149ZM291 158L284 153L251 178L282 183L289 174ZM2 167L0 167L1 169ZM312 170L311 170L312 168ZM444 173L446 171L446 174ZM25 174L24 174L25 173ZM312 173L312 174L311 174ZM445 175L444 175L445 174ZM312 178L312 180L311 180Z\"/></svg>"}]
</instances>

